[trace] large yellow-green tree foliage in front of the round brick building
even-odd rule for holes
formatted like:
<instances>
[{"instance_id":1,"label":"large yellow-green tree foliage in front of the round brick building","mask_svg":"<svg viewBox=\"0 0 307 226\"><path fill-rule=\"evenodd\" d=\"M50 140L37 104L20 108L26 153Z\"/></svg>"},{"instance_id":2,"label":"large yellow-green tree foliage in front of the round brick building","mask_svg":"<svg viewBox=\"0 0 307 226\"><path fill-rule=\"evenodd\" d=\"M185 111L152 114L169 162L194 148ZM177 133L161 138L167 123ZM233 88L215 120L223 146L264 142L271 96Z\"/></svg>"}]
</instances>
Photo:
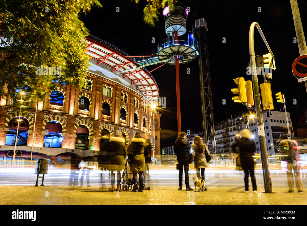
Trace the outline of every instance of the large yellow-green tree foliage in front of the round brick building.
<instances>
[{"instance_id":1,"label":"large yellow-green tree foliage in front of the round brick building","mask_svg":"<svg viewBox=\"0 0 307 226\"><path fill-rule=\"evenodd\" d=\"M79 18L98 0L4 0L0 3L0 96L15 95L22 84L29 98L42 99L53 89L56 75L38 74L36 67L61 67L62 81L79 85L88 69L85 37ZM19 67L24 64L25 67ZM30 67L30 65L33 65Z\"/></svg>"}]
</instances>

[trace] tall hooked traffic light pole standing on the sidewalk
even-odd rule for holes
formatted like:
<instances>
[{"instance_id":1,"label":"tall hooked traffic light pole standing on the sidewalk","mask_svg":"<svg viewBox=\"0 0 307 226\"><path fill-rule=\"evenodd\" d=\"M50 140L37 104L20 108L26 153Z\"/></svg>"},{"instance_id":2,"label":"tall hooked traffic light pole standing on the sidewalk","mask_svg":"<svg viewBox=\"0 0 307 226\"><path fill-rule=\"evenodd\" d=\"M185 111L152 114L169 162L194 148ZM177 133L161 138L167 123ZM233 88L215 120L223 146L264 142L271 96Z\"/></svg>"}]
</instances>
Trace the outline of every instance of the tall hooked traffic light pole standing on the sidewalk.
<instances>
[{"instance_id":1,"label":"tall hooked traffic light pole standing on the sidewalk","mask_svg":"<svg viewBox=\"0 0 307 226\"><path fill-rule=\"evenodd\" d=\"M266 38L264 37L260 26L258 23L253 22L250 27L249 31L249 53L250 53L250 60L251 60L251 67L252 67L252 80L253 80L253 89L255 95L255 109L256 115L258 119L258 136L259 136L259 144L260 144L260 153L261 153L261 162L262 162L262 171L263 171L263 182L264 182L264 190L267 193L273 193L272 190L272 180L270 177L270 169L269 169L269 161L268 155L266 151L266 140L265 140L265 133L264 133L264 125L263 125L263 118L262 118L262 109L260 103L260 93L259 93L259 84L258 84L258 77L257 77L257 67L256 67L256 59L255 59L255 47L254 47L254 30L255 26L257 27L266 47L270 51L272 58L274 55L270 49L270 46L266 42Z\"/></svg>"}]
</instances>

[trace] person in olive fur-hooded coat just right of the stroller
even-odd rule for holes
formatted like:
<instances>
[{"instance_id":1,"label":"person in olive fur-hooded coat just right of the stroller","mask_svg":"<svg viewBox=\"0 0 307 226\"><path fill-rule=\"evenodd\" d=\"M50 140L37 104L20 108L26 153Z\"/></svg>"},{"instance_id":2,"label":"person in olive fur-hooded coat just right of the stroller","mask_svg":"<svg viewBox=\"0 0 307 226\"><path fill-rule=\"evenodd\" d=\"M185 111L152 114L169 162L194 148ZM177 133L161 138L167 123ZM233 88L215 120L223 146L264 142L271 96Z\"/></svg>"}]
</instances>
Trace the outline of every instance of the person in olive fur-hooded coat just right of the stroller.
<instances>
[{"instance_id":1,"label":"person in olive fur-hooded coat just right of the stroller","mask_svg":"<svg viewBox=\"0 0 307 226\"><path fill-rule=\"evenodd\" d=\"M144 175L146 170L144 148L147 146L147 142L142 138L141 133L136 133L132 139L131 144L128 147L130 155L130 171L133 172L133 192L142 192L144 188ZM138 176L140 179L140 188L138 189Z\"/></svg>"}]
</instances>

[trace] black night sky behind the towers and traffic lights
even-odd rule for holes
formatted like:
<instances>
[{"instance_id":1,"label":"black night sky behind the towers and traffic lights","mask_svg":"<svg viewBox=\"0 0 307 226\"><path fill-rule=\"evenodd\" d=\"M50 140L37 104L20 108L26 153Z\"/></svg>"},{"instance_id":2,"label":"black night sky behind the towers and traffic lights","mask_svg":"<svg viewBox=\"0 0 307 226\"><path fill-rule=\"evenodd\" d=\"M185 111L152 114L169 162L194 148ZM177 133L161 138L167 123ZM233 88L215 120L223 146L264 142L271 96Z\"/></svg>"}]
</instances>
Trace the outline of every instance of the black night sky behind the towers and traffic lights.
<instances>
[{"instance_id":1,"label":"black night sky behind the towers and traffic lights","mask_svg":"<svg viewBox=\"0 0 307 226\"><path fill-rule=\"evenodd\" d=\"M154 50L158 43L167 38L162 12L155 27L149 27L142 21L145 0L138 4L130 0L100 1L100 9L92 9L81 19L92 35L99 35L131 54L140 54ZM233 78L244 77L249 61L248 35L252 22L258 22L275 56L276 70L273 70L272 93L274 110L279 111L283 104L277 103L274 93L282 92L286 97L287 111L295 127L298 116L306 110L306 89L304 83L298 83L292 73L292 63L299 57L290 1L185 1L191 8L187 20L187 30L192 30L196 19L205 18L208 24L209 61L212 80L213 110L215 125L231 114L247 112L242 104L234 103L231 88L237 87ZM307 2L298 0L305 35L307 34ZM116 13L119 6L120 12ZM258 12L261 7L261 12ZM185 34L187 36L187 33ZM155 38L155 43L152 43ZM226 38L226 43L222 43ZM267 54L266 46L255 29L255 54ZM148 69L154 69L155 65ZM190 68L191 74L187 74ZM181 94L181 127L196 133L202 131L201 103L199 88L198 58L183 64L179 68ZM166 98L166 108L160 109L161 148L174 144L177 137L176 80L175 66L164 65L152 72L160 90L160 97ZM258 76L259 84L263 82ZM260 90L260 88L259 88ZM226 99L226 105L222 100ZM297 105L293 105L297 99Z\"/></svg>"}]
</instances>

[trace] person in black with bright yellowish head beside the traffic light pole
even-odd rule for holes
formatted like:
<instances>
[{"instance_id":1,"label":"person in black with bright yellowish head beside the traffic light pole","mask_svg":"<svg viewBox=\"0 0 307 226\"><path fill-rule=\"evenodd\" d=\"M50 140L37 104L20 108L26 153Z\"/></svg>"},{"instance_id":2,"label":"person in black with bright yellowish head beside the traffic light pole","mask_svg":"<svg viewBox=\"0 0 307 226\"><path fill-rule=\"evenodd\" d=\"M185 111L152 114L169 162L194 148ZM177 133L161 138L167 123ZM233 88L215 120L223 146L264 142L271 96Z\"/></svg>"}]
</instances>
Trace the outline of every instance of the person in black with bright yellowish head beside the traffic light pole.
<instances>
[{"instance_id":1,"label":"person in black with bright yellowish head beside the traffic light pole","mask_svg":"<svg viewBox=\"0 0 307 226\"><path fill-rule=\"evenodd\" d=\"M238 153L240 154L242 168L244 171L245 192L249 193L248 176L250 175L253 193L257 193L256 177L254 173L255 161L253 159L253 154L256 151L256 145L254 141L249 139L251 137L251 132L248 129L243 129L240 136L241 138L235 142L233 148L237 148Z\"/></svg>"}]
</instances>

